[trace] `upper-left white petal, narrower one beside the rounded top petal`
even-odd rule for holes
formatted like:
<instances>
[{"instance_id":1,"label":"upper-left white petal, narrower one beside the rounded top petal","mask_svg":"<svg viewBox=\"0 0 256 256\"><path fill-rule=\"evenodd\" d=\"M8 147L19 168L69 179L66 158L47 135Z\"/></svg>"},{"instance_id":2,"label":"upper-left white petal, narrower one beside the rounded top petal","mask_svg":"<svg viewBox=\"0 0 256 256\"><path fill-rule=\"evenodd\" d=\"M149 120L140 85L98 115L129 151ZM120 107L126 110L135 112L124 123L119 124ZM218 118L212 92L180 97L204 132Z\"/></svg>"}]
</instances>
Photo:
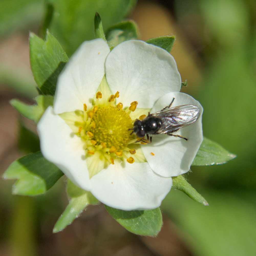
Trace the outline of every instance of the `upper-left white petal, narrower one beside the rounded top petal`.
<instances>
[{"instance_id":1,"label":"upper-left white petal, narrower one beside the rounded top petal","mask_svg":"<svg viewBox=\"0 0 256 256\"><path fill-rule=\"evenodd\" d=\"M54 113L82 110L90 103L105 74L110 49L103 39L83 42L58 77Z\"/></svg>"}]
</instances>

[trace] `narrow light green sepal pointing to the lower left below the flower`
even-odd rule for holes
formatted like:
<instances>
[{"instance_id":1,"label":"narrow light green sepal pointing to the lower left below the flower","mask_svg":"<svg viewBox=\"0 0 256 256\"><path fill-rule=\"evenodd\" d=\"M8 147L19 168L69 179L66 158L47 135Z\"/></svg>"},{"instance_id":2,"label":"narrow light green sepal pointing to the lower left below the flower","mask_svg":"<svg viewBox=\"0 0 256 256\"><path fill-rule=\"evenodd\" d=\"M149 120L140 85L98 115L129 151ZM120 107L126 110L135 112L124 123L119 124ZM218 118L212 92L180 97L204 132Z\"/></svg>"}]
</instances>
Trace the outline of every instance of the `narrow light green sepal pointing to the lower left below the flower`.
<instances>
[{"instance_id":1,"label":"narrow light green sepal pointing to the lower left below the flower","mask_svg":"<svg viewBox=\"0 0 256 256\"><path fill-rule=\"evenodd\" d=\"M57 233L70 225L75 218L79 217L81 212L88 205L96 205L99 203L91 192L77 187L69 179L66 191L68 197L70 198L69 204L56 222L53 229L54 233Z\"/></svg>"}]
</instances>

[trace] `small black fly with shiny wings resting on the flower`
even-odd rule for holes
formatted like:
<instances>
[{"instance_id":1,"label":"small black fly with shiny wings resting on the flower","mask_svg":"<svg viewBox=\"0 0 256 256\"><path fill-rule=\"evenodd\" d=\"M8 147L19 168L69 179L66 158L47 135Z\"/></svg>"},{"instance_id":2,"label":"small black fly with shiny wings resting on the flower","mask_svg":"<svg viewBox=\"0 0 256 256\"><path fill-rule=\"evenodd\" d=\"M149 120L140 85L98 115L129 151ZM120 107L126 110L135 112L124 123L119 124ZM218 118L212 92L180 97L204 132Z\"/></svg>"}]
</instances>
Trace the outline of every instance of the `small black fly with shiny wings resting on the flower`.
<instances>
[{"instance_id":1,"label":"small black fly with shiny wings resting on the flower","mask_svg":"<svg viewBox=\"0 0 256 256\"><path fill-rule=\"evenodd\" d=\"M162 110L153 114L148 112L148 116L143 120L135 120L131 134L136 133L136 136L141 138L137 142L152 143L152 135L156 134L166 134L183 138L186 141L188 140L183 136L173 133L182 127L194 123L199 118L199 108L194 105L182 105L170 108L174 99L169 106L164 107ZM147 135L147 140L144 139L145 135Z\"/></svg>"}]
</instances>

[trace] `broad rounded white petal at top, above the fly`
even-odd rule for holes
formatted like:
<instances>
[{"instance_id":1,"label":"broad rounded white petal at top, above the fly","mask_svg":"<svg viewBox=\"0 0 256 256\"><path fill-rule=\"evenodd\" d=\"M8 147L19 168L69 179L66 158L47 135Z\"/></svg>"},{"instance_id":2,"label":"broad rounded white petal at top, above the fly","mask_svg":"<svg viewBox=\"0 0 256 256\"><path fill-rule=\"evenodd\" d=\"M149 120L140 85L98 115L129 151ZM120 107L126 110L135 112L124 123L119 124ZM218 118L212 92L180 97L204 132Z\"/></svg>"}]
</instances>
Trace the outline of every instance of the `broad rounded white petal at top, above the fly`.
<instances>
[{"instance_id":1,"label":"broad rounded white petal at top, above the fly","mask_svg":"<svg viewBox=\"0 0 256 256\"><path fill-rule=\"evenodd\" d=\"M166 50L144 41L129 40L116 46L105 63L106 79L124 106L137 101L138 108L151 108L168 92L180 91L176 62Z\"/></svg>"}]
</instances>

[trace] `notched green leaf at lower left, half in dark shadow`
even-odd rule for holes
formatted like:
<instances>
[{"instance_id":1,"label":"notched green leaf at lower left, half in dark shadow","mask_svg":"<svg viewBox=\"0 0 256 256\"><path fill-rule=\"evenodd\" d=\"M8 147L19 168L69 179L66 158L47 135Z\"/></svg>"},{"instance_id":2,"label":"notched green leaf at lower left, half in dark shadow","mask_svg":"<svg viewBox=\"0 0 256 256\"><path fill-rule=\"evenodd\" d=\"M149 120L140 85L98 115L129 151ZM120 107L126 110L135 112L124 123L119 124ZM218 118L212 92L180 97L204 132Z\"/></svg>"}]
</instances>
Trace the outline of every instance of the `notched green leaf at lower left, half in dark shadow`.
<instances>
[{"instance_id":1,"label":"notched green leaf at lower left, half in dark shadow","mask_svg":"<svg viewBox=\"0 0 256 256\"><path fill-rule=\"evenodd\" d=\"M18 179L12 188L15 195L35 196L45 193L63 175L42 153L28 154L15 160L4 172L4 179Z\"/></svg>"}]
</instances>

